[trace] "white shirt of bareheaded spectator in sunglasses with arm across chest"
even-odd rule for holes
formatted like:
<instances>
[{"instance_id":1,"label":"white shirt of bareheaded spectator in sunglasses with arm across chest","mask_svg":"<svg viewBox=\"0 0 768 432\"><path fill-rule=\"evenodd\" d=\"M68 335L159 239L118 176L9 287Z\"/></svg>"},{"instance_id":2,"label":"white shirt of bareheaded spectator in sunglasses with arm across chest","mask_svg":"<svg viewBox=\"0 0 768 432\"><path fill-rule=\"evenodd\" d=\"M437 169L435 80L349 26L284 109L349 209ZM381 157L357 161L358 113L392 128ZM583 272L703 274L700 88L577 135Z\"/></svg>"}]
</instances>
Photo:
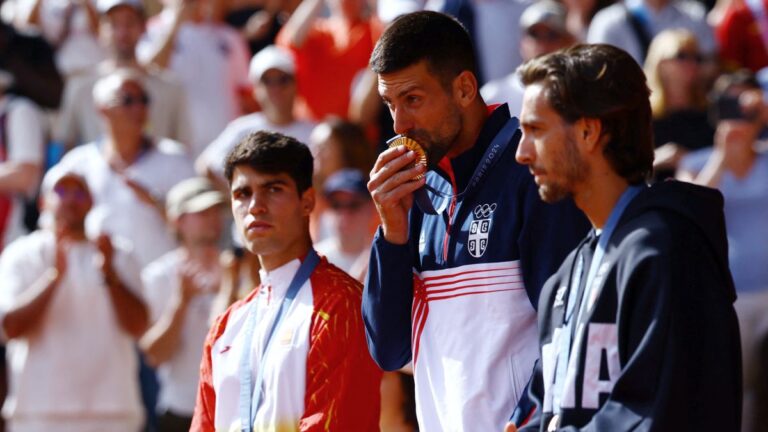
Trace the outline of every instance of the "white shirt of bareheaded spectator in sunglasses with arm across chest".
<instances>
[{"instance_id":1,"label":"white shirt of bareheaded spectator in sunglasses with arm across chest","mask_svg":"<svg viewBox=\"0 0 768 432\"><path fill-rule=\"evenodd\" d=\"M88 182L94 206L86 219L89 235L105 232L129 240L143 268L176 247L159 209L140 201L103 156L101 142L74 148L59 162ZM126 169L126 175L164 201L168 191L195 175L181 146L160 140Z\"/></svg>"}]
</instances>

